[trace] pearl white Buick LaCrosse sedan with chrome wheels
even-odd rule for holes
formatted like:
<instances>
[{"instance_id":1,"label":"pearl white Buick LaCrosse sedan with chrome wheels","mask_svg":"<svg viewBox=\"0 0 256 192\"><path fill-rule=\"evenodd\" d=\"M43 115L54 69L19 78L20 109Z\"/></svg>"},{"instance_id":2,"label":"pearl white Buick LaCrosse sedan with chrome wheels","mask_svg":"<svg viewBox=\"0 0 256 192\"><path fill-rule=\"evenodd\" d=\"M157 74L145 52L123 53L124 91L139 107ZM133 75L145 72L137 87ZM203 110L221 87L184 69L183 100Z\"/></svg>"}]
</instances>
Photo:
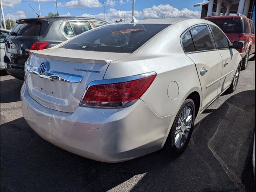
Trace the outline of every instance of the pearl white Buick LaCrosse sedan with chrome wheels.
<instances>
[{"instance_id":1,"label":"pearl white Buick LaCrosse sedan with chrome wheels","mask_svg":"<svg viewBox=\"0 0 256 192\"><path fill-rule=\"evenodd\" d=\"M236 89L242 46L201 19L102 26L31 51L23 115L45 140L102 162L164 145L180 154L196 116Z\"/></svg>"}]
</instances>

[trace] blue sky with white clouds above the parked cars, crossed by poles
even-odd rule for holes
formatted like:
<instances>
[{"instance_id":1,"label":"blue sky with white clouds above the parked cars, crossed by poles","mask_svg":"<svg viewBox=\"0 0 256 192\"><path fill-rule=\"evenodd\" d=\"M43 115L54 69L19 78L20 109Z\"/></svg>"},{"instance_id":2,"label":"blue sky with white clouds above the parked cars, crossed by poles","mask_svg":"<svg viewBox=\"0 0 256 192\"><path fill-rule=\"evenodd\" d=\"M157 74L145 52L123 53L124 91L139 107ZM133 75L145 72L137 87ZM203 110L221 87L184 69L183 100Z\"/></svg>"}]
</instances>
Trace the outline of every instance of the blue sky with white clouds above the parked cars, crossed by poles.
<instances>
[{"instance_id":1,"label":"blue sky with white clouds above the parked cars, crossed by poles","mask_svg":"<svg viewBox=\"0 0 256 192\"><path fill-rule=\"evenodd\" d=\"M94 18L104 18L104 0L57 0L58 13L66 16L88 16ZM203 0L136 0L135 16L138 19L146 18L177 18L200 17L201 7L193 5ZM106 19L109 22L119 20L125 14L130 18L132 0L105 0ZM33 18L36 17L34 11L28 6L30 4L39 14L38 0L2 0L4 13L10 11L11 19ZM47 15L48 12L56 13L55 0L40 0L41 14ZM2 20L2 14L1 14Z\"/></svg>"}]
</instances>

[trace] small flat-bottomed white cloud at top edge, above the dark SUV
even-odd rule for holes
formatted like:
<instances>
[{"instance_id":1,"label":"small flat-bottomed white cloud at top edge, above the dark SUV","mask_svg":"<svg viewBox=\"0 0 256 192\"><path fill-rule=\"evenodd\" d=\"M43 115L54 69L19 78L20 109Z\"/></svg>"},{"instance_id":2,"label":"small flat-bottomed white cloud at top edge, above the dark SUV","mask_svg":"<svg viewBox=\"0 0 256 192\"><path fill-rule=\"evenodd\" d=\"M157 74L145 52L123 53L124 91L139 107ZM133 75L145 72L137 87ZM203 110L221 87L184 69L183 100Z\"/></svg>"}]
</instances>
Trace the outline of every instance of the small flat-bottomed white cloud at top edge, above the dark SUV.
<instances>
[{"instance_id":1,"label":"small flat-bottomed white cloud at top edge, above the dark SUV","mask_svg":"<svg viewBox=\"0 0 256 192\"><path fill-rule=\"evenodd\" d=\"M102 4L98 0L71 0L71 1L61 3L59 5L63 7L69 7L69 8L102 7Z\"/></svg>"}]
</instances>

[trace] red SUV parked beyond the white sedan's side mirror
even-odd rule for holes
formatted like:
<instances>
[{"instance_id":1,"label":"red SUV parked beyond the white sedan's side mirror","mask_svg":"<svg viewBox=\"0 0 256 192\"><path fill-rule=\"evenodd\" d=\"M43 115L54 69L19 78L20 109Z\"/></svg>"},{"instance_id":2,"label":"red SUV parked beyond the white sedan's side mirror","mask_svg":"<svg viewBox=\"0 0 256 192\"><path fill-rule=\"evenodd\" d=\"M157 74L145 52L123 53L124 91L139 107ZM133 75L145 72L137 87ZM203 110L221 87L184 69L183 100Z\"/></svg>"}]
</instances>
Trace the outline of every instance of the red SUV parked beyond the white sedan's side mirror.
<instances>
[{"instance_id":1,"label":"red SUV parked beyond the white sedan's side mirror","mask_svg":"<svg viewBox=\"0 0 256 192\"><path fill-rule=\"evenodd\" d=\"M255 60L255 24L243 15L208 16L204 19L218 25L231 43L240 41L244 48L238 49L243 58L241 69L246 69L249 58Z\"/></svg>"}]
</instances>

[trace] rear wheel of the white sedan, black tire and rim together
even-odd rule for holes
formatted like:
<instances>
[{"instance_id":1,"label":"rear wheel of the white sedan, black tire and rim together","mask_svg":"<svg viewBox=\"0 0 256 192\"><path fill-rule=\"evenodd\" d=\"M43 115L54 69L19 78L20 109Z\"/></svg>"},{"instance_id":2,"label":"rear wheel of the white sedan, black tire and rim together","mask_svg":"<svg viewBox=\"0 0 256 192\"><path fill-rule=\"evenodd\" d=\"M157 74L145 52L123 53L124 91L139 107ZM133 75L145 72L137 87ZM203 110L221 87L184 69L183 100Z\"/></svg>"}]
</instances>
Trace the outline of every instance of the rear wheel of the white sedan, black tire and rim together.
<instances>
[{"instance_id":1,"label":"rear wheel of the white sedan, black tire and rim together","mask_svg":"<svg viewBox=\"0 0 256 192\"><path fill-rule=\"evenodd\" d=\"M190 109L190 112L189 112L189 109ZM188 145L188 142L190 140L190 137L194 128L195 111L196 111L196 108L195 108L194 101L192 99L186 99L183 102L182 106L180 107L180 110L178 111L174 119L172 128L169 132L168 138L165 143L165 149L172 156L178 156L179 154L184 152L184 150L186 149L186 146ZM186 112L187 113L189 112L189 113L186 114ZM189 116L191 116L190 121L189 121ZM184 121L185 119L188 121ZM180 127L180 130L178 127ZM190 128L188 129L188 127Z\"/></svg>"}]
</instances>

